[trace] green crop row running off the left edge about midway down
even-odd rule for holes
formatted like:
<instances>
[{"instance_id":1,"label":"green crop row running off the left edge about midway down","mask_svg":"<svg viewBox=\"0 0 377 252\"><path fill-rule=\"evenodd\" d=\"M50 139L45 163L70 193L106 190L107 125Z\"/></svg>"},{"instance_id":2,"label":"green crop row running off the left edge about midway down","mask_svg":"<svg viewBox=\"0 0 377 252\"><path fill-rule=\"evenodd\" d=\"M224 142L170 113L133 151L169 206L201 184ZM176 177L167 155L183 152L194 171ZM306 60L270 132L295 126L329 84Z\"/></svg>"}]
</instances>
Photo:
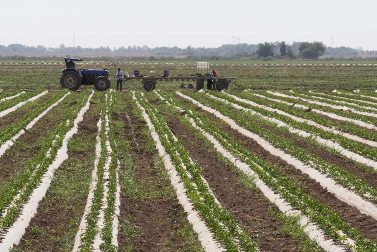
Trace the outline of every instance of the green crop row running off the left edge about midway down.
<instances>
[{"instance_id":1,"label":"green crop row running off the left edge about midway down","mask_svg":"<svg viewBox=\"0 0 377 252\"><path fill-rule=\"evenodd\" d=\"M52 95L52 97L49 100L45 101L42 104L38 104L38 106L35 109L23 115L23 117L21 117L5 129L2 129L0 131L0 146L9 139L11 139L14 135L16 135L21 129L25 128L35 117L37 117L47 108L49 108L49 106L57 102L66 93L66 90L56 92Z\"/></svg>"}]
</instances>

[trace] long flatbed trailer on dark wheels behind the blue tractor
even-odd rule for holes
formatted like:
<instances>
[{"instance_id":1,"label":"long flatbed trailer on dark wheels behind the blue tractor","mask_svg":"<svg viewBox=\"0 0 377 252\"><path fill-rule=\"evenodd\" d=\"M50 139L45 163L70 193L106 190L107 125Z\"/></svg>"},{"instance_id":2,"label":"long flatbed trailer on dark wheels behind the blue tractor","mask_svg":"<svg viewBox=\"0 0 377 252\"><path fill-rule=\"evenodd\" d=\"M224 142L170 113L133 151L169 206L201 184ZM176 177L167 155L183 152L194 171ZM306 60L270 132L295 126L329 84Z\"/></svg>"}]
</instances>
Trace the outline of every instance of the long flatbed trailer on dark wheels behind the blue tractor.
<instances>
[{"instance_id":1,"label":"long flatbed trailer on dark wheels behind the blue tractor","mask_svg":"<svg viewBox=\"0 0 377 252\"><path fill-rule=\"evenodd\" d=\"M216 89L221 91L223 89L228 89L229 84L232 80L236 80L237 77L206 77L201 75L196 76L177 76L177 77L151 77L151 76L138 76L138 77L123 77L124 81L127 80L141 80L146 91L151 91L156 88L157 80L160 81L195 81L196 89L200 90L204 88L205 80L216 80Z\"/></svg>"}]
</instances>

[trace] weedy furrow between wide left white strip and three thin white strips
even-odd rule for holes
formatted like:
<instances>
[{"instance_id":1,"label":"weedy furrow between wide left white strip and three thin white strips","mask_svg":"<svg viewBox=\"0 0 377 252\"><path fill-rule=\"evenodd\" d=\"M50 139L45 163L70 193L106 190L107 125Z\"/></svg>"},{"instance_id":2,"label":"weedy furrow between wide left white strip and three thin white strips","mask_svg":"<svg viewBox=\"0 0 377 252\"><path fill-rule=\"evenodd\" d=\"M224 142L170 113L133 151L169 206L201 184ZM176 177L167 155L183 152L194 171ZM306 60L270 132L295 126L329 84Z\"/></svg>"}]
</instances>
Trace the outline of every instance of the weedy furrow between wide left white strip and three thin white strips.
<instances>
[{"instance_id":1,"label":"weedy furrow between wide left white strip and three thin white strips","mask_svg":"<svg viewBox=\"0 0 377 252\"><path fill-rule=\"evenodd\" d=\"M93 110L90 105L83 121L78 124L78 132L68 144L69 158L55 172L50 189L16 248L51 252L72 249L84 212L95 157L93 143L99 116Z\"/></svg>"}]
</instances>

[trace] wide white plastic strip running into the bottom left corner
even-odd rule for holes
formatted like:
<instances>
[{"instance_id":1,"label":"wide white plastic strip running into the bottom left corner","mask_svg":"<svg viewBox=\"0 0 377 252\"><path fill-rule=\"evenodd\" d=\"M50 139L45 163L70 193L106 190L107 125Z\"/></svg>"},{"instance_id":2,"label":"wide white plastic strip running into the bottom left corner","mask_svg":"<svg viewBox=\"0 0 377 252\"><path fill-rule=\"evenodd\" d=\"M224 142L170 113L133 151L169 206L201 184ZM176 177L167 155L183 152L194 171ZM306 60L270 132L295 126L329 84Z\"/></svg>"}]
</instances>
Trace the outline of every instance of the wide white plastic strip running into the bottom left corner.
<instances>
[{"instance_id":1,"label":"wide white plastic strip running into the bottom left corner","mask_svg":"<svg viewBox=\"0 0 377 252\"><path fill-rule=\"evenodd\" d=\"M8 230L6 230L3 240L0 242L0 251L8 251L13 244L17 245L20 242L21 237L25 234L26 227L29 226L31 218L34 217L35 213L37 212L39 202L43 199L44 195L46 195L46 192L50 187L55 170L63 163L64 160L68 158L68 141L78 131L78 123L84 119L84 114L89 109L89 101L93 94L94 91L89 95L85 106L83 106L78 113L74 121L74 126L64 136L63 144L57 151L55 160L49 165L46 173L43 175L41 183L30 195L29 200L23 206L23 209L20 215L17 217L15 223Z\"/></svg>"}]
</instances>

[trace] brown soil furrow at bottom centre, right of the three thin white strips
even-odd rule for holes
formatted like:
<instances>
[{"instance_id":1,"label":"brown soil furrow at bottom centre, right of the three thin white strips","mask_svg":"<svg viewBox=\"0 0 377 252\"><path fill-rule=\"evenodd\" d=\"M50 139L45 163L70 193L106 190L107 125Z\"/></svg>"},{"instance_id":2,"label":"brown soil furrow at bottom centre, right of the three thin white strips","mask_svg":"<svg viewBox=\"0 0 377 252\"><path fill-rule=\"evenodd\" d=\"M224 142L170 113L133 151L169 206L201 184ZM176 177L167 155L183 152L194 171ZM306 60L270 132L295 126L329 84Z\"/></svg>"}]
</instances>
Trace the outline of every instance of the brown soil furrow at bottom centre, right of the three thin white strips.
<instances>
[{"instance_id":1,"label":"brown soil furrow at bottom centre, right of the three thin white strips","mask_svg":"<svg viewBox=\"0 0 377 252\"><path fill-rule=\"evenodd\" d=\"M127 103L128 108L133 104ZM129 251L127 247L135 247L135 251L192 251L185 247L177 235L183 226L188 225L187 215L172 190L170 183L162 182L156 167L156 151L150 148L149 133L144 132L146 122L135 117L131 109L120 114L113 114L113 120L124 122L123 139L130 143L130 154L134 156L135 178L140 192L131 197L126 188L121 187L120 226L132 226L135 235L119 232L119 251ZM115 134L119 134L115 132ZM121 167L122 169L122 167ZM127 196L128 195L128 196ZM159 196L157 196L159 195ZM126 220L126 217L130 218ZM197 244L200 246L200 244ZM132 250L134 251L134 250Z\"/></svg>"}]
</instances>

